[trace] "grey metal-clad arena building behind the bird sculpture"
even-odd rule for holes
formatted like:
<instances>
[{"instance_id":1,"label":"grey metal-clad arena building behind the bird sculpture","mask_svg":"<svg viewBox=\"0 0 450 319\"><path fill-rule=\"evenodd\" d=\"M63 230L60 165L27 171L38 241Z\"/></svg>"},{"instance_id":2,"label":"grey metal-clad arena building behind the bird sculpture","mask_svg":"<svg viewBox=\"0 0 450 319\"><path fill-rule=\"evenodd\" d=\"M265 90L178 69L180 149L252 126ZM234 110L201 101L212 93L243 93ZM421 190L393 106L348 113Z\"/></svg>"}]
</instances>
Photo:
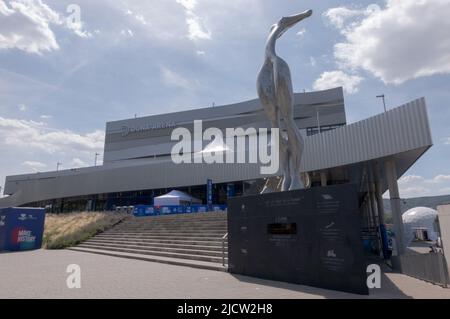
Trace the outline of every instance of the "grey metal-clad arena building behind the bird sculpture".
<instances>
[{"instance_id":1,"label":"grey metal-clad arena building behind the bird sculpture","mask_svg":"<svg viewBox=\"0 0 450 319\"><path fill-rule=\"evenodd\" d=\"M297 93L294 117L305 137L302 171L309 173L312 187L358 184L368 229L382 222L381 196L389 189L393 212L401 218L397 180L432 146L424 98L347 124L342 88ZM251 193L267 178L259 164L173 163L171 132L192 130L195 120L203 120L203 129L270 128L258 100L109 122L103 165L8 176L4 193L9 196L0 199L0 207L109 210L151 205L155 196L173 189L206 203L209 179L213 202L224 204L228 196ZM202 145L203 152L217 152Z\"/></svg>"}]
</instances>

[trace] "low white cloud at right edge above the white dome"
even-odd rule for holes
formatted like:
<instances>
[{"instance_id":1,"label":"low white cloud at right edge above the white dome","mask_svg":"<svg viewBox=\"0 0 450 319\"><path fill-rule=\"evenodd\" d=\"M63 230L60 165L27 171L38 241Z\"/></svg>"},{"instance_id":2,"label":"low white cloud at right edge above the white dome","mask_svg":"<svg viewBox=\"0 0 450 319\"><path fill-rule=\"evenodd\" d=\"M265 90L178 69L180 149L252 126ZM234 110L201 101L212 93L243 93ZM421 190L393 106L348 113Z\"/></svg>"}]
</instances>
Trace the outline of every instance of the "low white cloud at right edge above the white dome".
<instances>
[{"instance_id":1,"label":"low white cloud at right edge above the white dome","mask_svg":"<svg viewBox=\"0 0 450 319\"><path fill-rule=\"evenodd\" d=\"M450 194L450 175L436 175L425 178L419 175L406 175L398 181L400 196L421 197Z\"/></svg>"}]
</instances>

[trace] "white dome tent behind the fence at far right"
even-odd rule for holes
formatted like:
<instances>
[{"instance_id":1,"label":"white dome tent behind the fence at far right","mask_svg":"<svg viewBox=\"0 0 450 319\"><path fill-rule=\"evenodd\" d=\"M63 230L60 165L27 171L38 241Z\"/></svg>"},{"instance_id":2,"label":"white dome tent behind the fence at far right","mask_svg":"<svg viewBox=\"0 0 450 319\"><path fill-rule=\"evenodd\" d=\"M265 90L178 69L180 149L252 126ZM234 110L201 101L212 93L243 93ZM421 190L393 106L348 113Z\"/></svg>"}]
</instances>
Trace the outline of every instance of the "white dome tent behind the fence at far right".
<instances>
[{"instance_id":1,"label":"white dome tent behind the fence at far right","mask_svg":"<svg viewBox=\"0 0 450 319\"><path fill-rule=\"evenodd\" d=\"M437 211L428 207L415 207L407 210L403 215L404 240L408 247L414 239L436 241Z\"/></svg>"}]
</instances>

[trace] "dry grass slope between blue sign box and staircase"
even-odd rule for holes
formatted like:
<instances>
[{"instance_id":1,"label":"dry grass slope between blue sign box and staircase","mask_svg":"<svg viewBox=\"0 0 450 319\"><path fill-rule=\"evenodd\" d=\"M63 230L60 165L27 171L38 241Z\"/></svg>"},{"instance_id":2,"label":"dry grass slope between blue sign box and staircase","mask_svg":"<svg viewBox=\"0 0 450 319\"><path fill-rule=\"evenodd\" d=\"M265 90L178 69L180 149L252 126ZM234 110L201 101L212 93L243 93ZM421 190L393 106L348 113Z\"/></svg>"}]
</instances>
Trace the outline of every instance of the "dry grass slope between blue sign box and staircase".
<instances>
[{"instance_id":1,"label":"dry grass slope between blue sign box and staircase","mask_svg":"<svg viewBox=\"0 0 450 319\"><path fill-rule=\"evenodd\" d=\"M75 246L110 228L129 215L119 213L47 214L42 247L63 249Z\"/></svg>"}]
</instances>

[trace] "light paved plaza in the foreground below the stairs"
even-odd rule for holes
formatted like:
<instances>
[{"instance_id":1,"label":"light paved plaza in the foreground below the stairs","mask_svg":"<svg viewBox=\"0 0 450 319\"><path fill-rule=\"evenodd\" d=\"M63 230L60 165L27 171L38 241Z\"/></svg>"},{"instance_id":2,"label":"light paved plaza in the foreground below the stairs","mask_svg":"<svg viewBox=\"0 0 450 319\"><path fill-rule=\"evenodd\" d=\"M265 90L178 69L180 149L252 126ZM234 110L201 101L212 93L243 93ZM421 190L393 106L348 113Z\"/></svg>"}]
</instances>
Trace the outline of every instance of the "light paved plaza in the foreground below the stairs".
<instances>
[{"instance_id":1,"label":"light paved plaza in the foreground below the stairs","mask_svg":"<svg viewBox=\"0 0 450 319\"><path fill-rule=\"evenodd\" d=\"M81 288L67 288L69 264L81 267ZM0 298L450 298L443 289L387 273L370 296L234 276L225 272L69 250L0 254Z\"/></svg>"}]
</instances>

